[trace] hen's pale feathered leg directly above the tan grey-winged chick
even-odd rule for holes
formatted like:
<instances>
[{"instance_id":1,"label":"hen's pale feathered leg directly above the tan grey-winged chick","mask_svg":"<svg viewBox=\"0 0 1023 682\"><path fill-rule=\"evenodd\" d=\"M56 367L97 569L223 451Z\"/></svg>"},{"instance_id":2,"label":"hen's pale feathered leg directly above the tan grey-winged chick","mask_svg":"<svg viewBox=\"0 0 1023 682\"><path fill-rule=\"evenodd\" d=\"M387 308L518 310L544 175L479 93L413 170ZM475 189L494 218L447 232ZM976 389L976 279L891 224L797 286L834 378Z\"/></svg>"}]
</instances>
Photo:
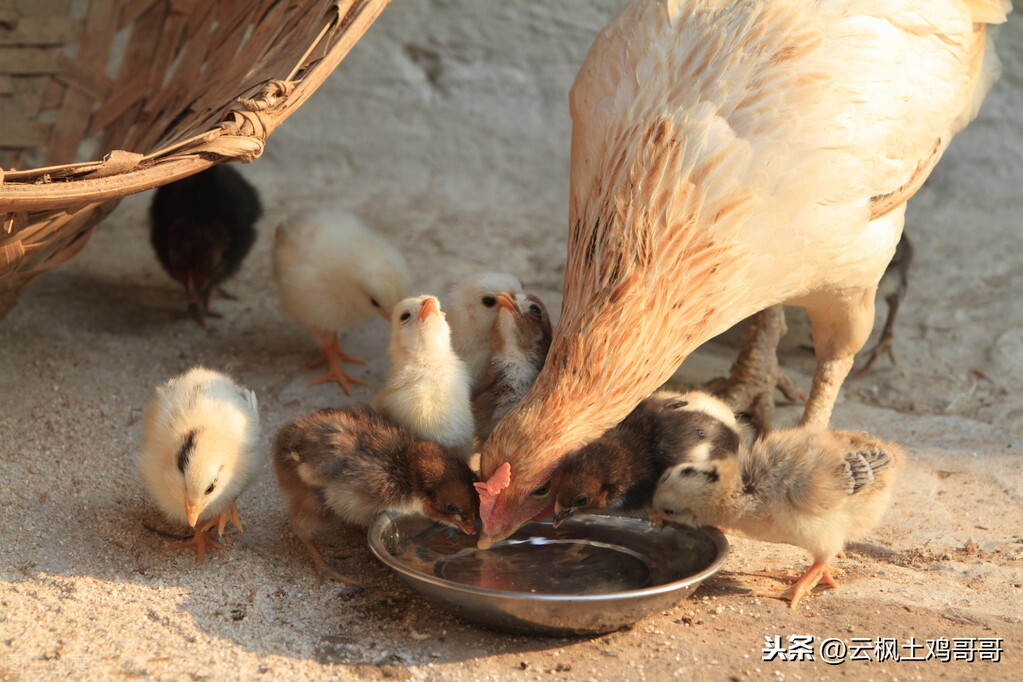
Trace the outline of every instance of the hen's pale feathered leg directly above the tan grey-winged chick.
<instances>
[{"instance_id":1,"label":"hen's pale feathered leg directly above the tan grey-winged chick","mask_svg":"<svg viewBox=\"0 0 1023 682\"><path fill-rule=\"evenodd\" d=\"M848 289L805 303L813 332L817 369L803 411L802 425L827 426L842 382L852 369L853 356L863 347L874 326L877 287Z\"/></svg>"}]
</instances>

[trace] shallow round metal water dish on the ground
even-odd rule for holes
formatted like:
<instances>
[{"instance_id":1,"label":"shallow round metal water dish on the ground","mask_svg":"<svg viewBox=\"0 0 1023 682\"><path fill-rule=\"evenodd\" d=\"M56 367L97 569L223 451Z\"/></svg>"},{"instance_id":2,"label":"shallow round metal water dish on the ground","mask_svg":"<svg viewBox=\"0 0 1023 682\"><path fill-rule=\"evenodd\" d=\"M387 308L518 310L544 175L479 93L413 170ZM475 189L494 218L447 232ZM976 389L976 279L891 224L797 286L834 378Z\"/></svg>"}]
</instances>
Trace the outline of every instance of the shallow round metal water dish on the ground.
<instances>
[{"instance_id":1,"label":"shallow round metal water dish on the ground","mask_svg":"<svg viewBox=\"0 0 1023 682\"><path fill-rule=\"evenodd\" d=\"M382 514L376 557L413 590L466 621L549 635L612 632L673 606L717 573L717 530L636 518L574 516L523 526L490 549L421 516Z\"/></svg>"}]
</instances>

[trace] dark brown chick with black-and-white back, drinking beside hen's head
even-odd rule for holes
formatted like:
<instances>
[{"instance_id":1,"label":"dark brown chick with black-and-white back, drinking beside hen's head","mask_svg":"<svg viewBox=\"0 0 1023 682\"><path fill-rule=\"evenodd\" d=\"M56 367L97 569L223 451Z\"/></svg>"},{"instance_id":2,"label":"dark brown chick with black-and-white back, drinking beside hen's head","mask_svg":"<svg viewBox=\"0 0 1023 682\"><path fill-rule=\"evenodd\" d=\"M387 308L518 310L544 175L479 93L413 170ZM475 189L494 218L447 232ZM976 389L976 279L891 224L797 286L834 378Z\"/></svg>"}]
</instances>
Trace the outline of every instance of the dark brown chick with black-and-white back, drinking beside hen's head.
<instances>
[{"instance_id":1,"label":"dark brown chick with black-and-white back, drinking beside hen's head","mask_svg":"<svg viewBox=\"0 0 1023 682\"><path fill-rule=\"evenodd\" d=\"M735 414L718 399L658 392L554 473L554 526L585 511L646 513L666 468L733 456L742 438Z\"/></svg>"}]
</instances>

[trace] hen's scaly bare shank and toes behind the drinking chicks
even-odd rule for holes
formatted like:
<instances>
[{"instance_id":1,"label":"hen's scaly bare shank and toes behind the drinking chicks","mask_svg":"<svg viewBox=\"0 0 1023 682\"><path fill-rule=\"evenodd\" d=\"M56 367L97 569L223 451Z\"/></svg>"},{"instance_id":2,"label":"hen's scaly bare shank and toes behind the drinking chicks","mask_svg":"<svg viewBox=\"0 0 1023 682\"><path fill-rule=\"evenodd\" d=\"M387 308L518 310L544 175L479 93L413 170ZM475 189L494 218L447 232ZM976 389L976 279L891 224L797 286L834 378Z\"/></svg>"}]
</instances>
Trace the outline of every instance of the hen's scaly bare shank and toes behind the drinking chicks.
<instances>
[{"instance_id":1,"label":"hen's scaly bare shank and toes behind the drinking chicks","mask_svg":"<svg viewBox=\"0 0 1023 682\"><path fill-rule=\"evenodd\" d=\"M775 390L790 401L806 400L806 394L777 365L777 345L787 331L782 306L760 311L743 332L729 375L707 384L709 392L737 413L748 414L761 434L770 430Z\"/></svg>"}]
</instances>

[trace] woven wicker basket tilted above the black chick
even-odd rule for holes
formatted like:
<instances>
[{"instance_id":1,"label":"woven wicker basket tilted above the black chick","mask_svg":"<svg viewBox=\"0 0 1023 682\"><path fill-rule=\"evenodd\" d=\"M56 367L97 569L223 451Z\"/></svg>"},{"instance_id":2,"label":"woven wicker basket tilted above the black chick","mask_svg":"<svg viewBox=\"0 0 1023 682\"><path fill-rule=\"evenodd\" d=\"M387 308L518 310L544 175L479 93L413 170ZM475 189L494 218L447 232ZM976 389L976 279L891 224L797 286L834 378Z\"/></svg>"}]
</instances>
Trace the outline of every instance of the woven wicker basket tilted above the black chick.
<instances>
[{"instance_id":1,"label":"woven wicker basket tilted above the black chick","mask_svg":"<svg viewBox=\"0 0 1023 682\"><path fill-rule=\"evenodd\" d=\"M121 197L259 156L389 1L0 0L0 317Z\"/></svg>"}]
</instances>

